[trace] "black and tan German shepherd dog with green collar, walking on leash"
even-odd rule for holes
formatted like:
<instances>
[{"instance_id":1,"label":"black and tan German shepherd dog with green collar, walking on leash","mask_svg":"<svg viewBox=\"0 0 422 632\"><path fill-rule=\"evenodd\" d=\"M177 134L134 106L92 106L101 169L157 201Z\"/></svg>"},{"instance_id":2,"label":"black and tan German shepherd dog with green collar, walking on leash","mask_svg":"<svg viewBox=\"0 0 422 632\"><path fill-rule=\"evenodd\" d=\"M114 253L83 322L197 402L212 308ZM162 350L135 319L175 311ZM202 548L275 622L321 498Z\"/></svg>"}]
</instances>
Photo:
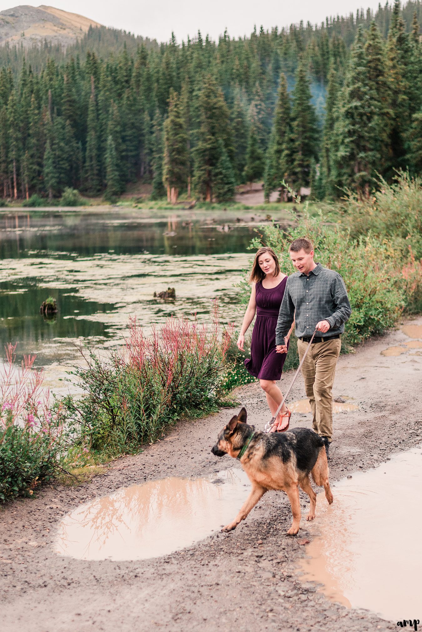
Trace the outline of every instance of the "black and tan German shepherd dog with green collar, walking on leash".
<instances>
[{"instance_id":1,"label":"black and tan German shepherd dog with green collar, walking on leash","mask_svg":"<svg viewBox=\"0 0 422 632\"><path fill-rule=\"evenodd\" d=\"M289 497L293 514L292 526L287 533L296 535L301 519L298 485L310 497L306 520L315 518L317 495L311 487L310 473L315 484L323 486L329 504L333 501L325 446L321 437L309 428L293 428L283 434L255 431L254 426L246 423L246 410L242 408L239 415L232 417L220 432L211 452L215 456L230 454L233 458L240 457L241 465L252 483L248 499L223 531L235 529L265 492L281 489Z\"/></svg>"}]
</instances>

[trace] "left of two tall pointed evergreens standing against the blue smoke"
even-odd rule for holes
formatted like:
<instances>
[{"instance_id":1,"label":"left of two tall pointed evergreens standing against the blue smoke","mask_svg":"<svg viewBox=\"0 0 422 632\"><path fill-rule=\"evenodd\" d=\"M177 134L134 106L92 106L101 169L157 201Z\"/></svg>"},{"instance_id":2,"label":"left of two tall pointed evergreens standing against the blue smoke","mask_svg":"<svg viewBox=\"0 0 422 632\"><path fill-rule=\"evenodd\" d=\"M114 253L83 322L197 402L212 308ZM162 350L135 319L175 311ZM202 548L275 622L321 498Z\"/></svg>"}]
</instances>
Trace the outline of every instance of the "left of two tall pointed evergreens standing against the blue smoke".
<instances>
[{"instance_id":1,"label":"left of two tall pointed evergreens standing against the blue smoke","mask_svg":"<svg viewBox=\"0 0 422 632\"><path fill-rule=\"evenodd\" d=\"M267 202L270 193L280 189L282 181L289 181L289 169L292 162L291 154L292 127L290 97L287 92L286 75L280 76L277 105L275 106L274 121L267 152L267 162L264 174L264 195Z\"/></svg>"}]
</instances>

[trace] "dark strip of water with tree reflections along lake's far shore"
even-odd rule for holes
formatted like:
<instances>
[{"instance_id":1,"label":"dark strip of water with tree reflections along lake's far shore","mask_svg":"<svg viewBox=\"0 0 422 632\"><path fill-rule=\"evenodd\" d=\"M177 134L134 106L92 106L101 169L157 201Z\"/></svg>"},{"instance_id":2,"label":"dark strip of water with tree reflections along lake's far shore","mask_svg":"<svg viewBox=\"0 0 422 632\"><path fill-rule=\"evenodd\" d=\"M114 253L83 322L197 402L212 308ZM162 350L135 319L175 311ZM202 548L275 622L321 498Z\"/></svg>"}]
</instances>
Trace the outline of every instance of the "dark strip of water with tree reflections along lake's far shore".
<instances>
[{"instance_id":1,"label":"dark strip of water with tree reflections along lake's far shore","mask_svg":"<svg viewBox=\"0 0 422 632\"><path fill-rule=\"evenodd\" d=\"M34 252L49 257L58 253L90 256L110 250L116 255L244 252L256 234L255 224L237 222L235 216L229 224L219 213L205 217L184 212L183 216L155 219L124 210L107 214L1 214L0 258L31 257Z\"/></svg>"}]
</instances>

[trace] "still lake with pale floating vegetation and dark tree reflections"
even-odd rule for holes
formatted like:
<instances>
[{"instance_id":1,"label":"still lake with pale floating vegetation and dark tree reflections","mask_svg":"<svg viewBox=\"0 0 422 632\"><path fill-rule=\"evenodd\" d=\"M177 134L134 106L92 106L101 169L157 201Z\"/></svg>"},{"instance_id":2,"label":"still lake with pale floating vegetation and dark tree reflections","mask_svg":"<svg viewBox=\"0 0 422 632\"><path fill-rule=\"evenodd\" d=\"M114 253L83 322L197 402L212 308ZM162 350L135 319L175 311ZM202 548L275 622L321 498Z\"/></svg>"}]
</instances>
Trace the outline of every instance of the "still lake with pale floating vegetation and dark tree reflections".
<instances>
[{"instance_id":1,"label":"still lake with pale floating vegetation and dark tree reflections","mask_svg":"<svg viewBox=\"0 0 422 632\"><path fill-rule=\"evenodd\" d=\"M37 365L75 357L80 339L109 346L123 339L130 315L148 330L183 314L209 322L218 298L223 324L240 325L234 284L248 267L263 214L181 210L0 214L0 343ZM157 293L174 287L176 300ZM56 298L57 317L39 308Z\"/></svg>"}]
</instances>

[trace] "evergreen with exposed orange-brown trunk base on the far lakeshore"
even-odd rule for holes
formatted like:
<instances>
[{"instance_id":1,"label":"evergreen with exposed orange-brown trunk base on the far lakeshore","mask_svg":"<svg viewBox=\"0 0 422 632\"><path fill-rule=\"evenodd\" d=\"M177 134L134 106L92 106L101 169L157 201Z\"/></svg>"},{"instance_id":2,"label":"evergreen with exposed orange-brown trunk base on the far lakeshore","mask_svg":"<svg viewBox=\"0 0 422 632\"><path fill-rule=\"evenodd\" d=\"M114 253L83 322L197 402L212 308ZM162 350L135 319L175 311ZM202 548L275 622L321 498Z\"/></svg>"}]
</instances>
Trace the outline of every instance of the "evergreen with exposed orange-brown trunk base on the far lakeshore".
<instances>
[{"instance_id":1,"label":"evergreen with exposed orange-brown trunk base on the far lakeshore","mask_svg":"<svg viewBox=\"0 0 422 632\"><path fill-rule=\"evenodd\" d=\"M169 113L164 121L163 183L167 188L167 201L176 204L179 190L188 181L188 134L184 126L179 97L170 90Z\"/></svg>"}]
</instances>

